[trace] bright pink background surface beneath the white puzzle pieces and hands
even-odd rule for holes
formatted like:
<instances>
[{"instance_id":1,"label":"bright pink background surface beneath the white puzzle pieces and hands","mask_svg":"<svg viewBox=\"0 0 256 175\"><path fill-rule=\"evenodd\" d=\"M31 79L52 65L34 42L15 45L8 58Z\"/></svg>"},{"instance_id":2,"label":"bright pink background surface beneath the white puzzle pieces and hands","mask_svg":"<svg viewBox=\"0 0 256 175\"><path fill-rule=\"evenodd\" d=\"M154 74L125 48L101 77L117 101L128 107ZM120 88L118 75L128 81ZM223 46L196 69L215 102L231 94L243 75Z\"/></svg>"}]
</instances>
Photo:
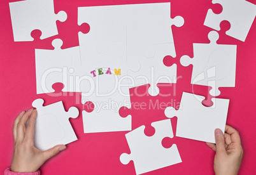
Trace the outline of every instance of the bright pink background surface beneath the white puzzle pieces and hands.
<instances>
[{"instance_id":1,"label":"bright pink background surface beneath the white puzzle pieces and hands","mask_svg":"<svg viewBox=\"0 0 256 175\"><path fill-rule=\"evenodd\" d=\"M14 42L11 28L11 18L9 5L11 1L2 0L0 5L1 27L0 27L0 172L11 164L13 152L12 127L15 117L22 110L31 108L31 103L36 98L43 98L45 105L56 101L64 101L64 107L75 106L80 110L77 119L71 119L71 124L75 129L78 141L68 144L68 148L51 160L48 160L42 167L43 174L135 174L134 164L121 164L119 157L122 153L129 153L129 146L125 139L127 132L115 133L95 133L84 134L82 123L83 105L76 103L80 101L79 94L64 94L60 89L62 84L55 85L59 93L36 94L36 73L34 49L53 49L52 40L60 38L64 41L62 48L78 46L78 31L82 30L77 25L77 13L79 6L99 6L112 4L136 4L136 3L159 3L169 1L103 1L103 0L55 0L55 13L60 10L68 13L66 22L57 22L59 35L48 39L40 40L40 32L32 32L35 41ZM255 1L250 0L256 4ZM212 29L203 25L204 18L209 8L214 8L215 12L220 13L221 6L211 4L210 0L179 0L171 1L171 17L180 15L185 19L183 27L172 27L177 56L174 59L166 58L166 65L170 60L178 64L178 82L176 86L160 87L160 92L171 93L171 96L131 96L134 104L146 103L145 109L123 111L132 115L132 129L141 125L146 125L146 134L153 134L150 123L157 120L166 119L164 108L166 103L171 102L178 108L181 94L183 91L194 92L203 96L208 96L208 87L192 86L190 84L192 65L182 67L179 63L180 57L189 55L193 57L192 43L207 43L208 32ZM154 25L152 23L152 25ZM238 45L236 62L236 87L221 88L219 98L229 98L230 106L227 117L227 124L238 129L245 156L241 164L239 174L255 174L255 89L256 89L256 22L246 38L245 42L238 41L226 36L225 31L229 29L228 22L221 23L222 30L218 32L220 39L218 44ZM147 86L139 87L138 91L146 91ZM131 89L131 93L134 89ZM159 108L152 108L150 103L157 103ZM207 101L206 101L207 102ZM160 105L162 105L160 107ZM176 131L176 117L171 119L173 131ZM202 131L203 132L203 131ZM194 141L174 137L164 141L164 145L176 143L182 163L165 167L148 174L214 174L213 157L215 153L208 148L204 142Z\"/></svg>"}]
</instances>

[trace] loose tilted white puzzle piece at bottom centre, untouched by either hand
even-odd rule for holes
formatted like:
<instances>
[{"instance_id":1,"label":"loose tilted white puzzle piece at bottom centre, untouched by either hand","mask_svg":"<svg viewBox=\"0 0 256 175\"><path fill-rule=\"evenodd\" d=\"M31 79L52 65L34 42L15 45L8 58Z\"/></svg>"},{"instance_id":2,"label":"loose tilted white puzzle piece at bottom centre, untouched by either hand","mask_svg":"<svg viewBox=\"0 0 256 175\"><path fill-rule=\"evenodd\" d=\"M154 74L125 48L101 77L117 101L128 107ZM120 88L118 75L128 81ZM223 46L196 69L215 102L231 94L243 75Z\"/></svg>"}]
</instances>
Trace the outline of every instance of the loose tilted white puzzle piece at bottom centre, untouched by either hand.
<instances>
[{"instance_id":1,"label":"loose tilted white puzzle piece at bottom centre, untouched by either hand","mask_svg":"<svg viewBox=\"0 0 256 175\"><path fill-rule=\"evenodd\" d=\"M182 162L175 144L171 148L162 146L162 139L173 138L171 120L153 122L152 126L155 128L155 134L150 137L144 133L145 126L125 134L131 154L123 153L120 156L120 162L126 165L132 160L136 174L143 174Z\"/></svg>"}]
</instances>

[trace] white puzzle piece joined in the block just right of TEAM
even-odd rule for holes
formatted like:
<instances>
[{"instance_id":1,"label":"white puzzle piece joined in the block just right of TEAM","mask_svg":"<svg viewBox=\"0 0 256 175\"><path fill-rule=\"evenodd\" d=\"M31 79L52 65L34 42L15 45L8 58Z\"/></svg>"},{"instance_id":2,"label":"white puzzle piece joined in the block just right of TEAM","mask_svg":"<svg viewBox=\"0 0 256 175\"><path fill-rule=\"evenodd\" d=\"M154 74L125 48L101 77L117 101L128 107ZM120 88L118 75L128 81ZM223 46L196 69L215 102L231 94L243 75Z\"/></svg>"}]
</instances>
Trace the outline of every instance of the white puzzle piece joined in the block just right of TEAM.
<instances>
[{"instance_id":1,"label":"white puzzle piece joined in the block just right of TEAM","mask_svg":"<svg viewBox=\"0 0 256 175\"><path fill-rule=\"evenodd\" d=\"M176 83L177 65L173 64L171 67L166 67L163 63L163 58L168 55L166 53L169 52L170 45L171 43L155 45L154 48L157 48L157 53L153 53L148 58L145 57L144 53L141 53L141 47L137 47L136 44L127 46L128 49L134 47L132 52L127 53L127 56L141 63L138 72L128 71L129 77L134 81L133 87L150 84L148 93L151 96L156 96L159 94L158 83Z\"/></svg>"}]
</instances>

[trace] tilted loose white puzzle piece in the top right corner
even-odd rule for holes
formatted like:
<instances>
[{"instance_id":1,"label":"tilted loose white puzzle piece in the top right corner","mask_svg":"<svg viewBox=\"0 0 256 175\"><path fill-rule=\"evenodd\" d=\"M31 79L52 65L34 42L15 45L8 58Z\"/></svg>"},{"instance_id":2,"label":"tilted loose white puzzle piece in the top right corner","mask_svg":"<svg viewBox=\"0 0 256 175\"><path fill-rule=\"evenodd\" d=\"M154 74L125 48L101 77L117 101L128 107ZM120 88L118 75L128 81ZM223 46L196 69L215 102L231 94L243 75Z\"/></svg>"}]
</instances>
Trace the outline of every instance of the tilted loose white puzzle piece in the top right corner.
<instances>
[{"instance_id":1,"label":"tilted loose white puzzle piece in the top right corner","mask_svg":"<svg viewBox=\"0 0 256 175\"><path fill-rule=\"evenodd\" d=\"M204 25L220 30L220 22L227 20L231 29L226 34L245 41L256 16L256 5L245 0L213 0L213 4L216 3L222 5L222 13L215 14L213 10L208 10Z\"/></svg>"}]
</instances>

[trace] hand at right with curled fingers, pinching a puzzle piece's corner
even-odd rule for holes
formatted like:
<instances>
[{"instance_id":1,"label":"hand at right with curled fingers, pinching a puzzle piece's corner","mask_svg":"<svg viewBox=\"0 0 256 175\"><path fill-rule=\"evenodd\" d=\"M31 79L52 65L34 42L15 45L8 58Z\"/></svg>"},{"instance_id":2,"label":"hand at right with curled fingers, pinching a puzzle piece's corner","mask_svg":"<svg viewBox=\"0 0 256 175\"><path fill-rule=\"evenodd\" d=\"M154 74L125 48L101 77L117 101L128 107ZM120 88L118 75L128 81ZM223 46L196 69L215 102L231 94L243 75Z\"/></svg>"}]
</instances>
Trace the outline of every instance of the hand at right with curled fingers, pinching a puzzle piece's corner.
<instances>
[{"instance_id":1,"label":"hand at right with curled fingers, pinching a puzzle piece's corner","mask_svg":"<svg viewBox=\"0 0 256 175\"><path fill-rule=\"evenodd\" d=\"M238 174L243 159L243 148L238 131L231 126L225 127L225 134L215 129L215 142L206 143L215 154L214 171L216 175Z\"/></svg>"}]
</instances>

